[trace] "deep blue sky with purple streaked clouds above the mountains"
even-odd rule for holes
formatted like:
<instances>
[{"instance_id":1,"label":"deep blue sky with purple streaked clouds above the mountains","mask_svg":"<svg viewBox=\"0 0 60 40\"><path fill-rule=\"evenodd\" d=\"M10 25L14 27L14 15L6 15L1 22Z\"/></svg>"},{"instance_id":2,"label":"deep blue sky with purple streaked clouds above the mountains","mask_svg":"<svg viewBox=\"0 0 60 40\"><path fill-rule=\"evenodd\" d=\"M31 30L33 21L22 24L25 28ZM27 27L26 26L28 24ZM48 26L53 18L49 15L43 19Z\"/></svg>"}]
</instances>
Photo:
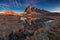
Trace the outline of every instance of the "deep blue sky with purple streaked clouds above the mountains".
<instances>
[{"instance_id":1,"label":"deep blue sky with purple streaked clouds above the mountains","mask_svg":"<svg viewBox=\"0 0 60 40\"><path fill-rule=\"evenodd\" d=\"M60 12L60 0L0 0L0 12L9 10L23 13L27 6Z\"/></svg>"}]
</instances>

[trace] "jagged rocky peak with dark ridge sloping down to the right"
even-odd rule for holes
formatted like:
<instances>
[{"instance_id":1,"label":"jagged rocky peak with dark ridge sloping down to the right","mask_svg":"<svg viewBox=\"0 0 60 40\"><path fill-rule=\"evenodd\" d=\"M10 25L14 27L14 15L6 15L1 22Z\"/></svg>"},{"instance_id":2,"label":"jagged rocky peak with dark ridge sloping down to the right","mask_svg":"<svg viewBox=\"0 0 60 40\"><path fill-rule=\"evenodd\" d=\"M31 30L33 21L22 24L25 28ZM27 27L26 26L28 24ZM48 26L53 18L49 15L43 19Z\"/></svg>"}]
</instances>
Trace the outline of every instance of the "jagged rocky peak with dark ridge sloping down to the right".
<instances>
[{"instance_id":1,"label":"jagged rocky peak with dark ridge sloping down to the right","mask_svg":"<svg viewBox=\"0 0 60 40\"><path fill-rule=\"evenodd\" d=\"M49 13L49 11L47 11L47 10L38 9L38 8L35 8L35 7L30 7L30 6L28 6L26 8L25 12L37 12L37 13L42 13L42 14Z\"/></svg>"}]
</instances>

